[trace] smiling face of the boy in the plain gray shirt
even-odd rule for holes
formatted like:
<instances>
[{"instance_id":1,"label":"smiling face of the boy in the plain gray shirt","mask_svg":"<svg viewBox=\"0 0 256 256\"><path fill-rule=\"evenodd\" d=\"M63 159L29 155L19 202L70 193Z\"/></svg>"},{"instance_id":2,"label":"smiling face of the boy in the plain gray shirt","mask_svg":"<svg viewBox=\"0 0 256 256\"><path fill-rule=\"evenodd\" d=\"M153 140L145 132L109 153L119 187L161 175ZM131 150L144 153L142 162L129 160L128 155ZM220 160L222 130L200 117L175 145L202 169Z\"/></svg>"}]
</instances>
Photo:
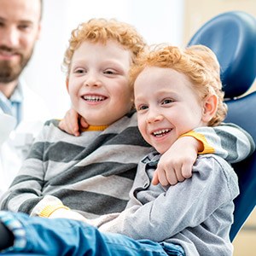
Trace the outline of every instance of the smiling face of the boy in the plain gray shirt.
<instances>
[{"instance_id":1,"label":"smiling face of the boy in the plain gray shirt","mask_svg":"<svg viewBox=\"0 0 256 256\"><path fill-rule=\"evenodd\" d=\"M189 79L171 68L146 67L135 81L134 96L139 130L160 154L183 133L207 125Z\"/></svg>"}]
</instances>

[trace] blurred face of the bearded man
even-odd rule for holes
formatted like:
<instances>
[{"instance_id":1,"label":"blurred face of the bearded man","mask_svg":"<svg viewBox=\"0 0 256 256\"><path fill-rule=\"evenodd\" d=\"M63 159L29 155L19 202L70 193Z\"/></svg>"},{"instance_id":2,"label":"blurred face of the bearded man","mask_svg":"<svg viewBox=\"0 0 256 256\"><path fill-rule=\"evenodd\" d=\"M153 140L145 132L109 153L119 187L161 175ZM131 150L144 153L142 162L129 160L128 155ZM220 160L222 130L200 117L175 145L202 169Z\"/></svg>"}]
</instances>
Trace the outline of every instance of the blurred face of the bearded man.
<instances>
[{"instance_id":1,"label":"blurred face of the bearded man","mask_svg":"<svg viewBox=\"0 0 256 256\"><path fill-rule=\"evenodd\" d=\"M18 79L40 32L41 1L0 1L0 83Z\"/></svg>"}]
</instances>

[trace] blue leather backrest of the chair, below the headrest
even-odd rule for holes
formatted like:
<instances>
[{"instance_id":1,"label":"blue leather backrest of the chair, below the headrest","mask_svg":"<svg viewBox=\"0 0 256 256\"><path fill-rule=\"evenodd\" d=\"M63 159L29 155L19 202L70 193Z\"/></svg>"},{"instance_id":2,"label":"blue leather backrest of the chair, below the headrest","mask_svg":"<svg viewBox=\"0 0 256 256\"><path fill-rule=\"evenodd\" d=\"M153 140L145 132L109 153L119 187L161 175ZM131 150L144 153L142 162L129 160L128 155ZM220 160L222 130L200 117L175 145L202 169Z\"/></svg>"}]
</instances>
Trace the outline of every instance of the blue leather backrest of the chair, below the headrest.
<instances>
[{"instance_id":1,"label":"blue leather backrest of the chair, below the headrest","mask_svg":"<svg viewBox=\"0 0 256 256\"><path fill-rule=\"evenodd\" d=\"M225 121L240 125L256 142L256 92L227 103L229 112ZM233 167L239 178L240 195L235 199L234 224L230 231L232 241L256 205L256 152Z\"/></svg>"}]
</instances>

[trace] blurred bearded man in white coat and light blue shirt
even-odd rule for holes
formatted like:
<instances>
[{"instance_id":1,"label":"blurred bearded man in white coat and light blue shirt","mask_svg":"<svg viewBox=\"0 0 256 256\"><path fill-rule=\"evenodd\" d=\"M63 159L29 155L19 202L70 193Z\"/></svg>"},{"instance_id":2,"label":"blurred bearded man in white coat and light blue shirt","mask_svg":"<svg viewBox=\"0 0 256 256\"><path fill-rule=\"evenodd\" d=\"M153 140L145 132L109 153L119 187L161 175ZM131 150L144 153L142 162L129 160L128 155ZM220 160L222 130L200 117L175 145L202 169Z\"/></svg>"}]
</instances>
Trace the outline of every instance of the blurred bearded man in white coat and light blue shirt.
<instances>
[{"instance_id":1,"label":"blurred bearded man in white coat and light blue shirt","mask_svg":"<svg viewBox=\"0 0 256 256\"><path fill-rule=\"evenodd\" d=\"M44 102L20 79L39 38L42 4L42 0L0 1L0 115L15 120L15 131L0 145L0 194L15 177L43 120L49 118ZM0 124L0 133L4 125Z\"/></svg>"}]
</instances>

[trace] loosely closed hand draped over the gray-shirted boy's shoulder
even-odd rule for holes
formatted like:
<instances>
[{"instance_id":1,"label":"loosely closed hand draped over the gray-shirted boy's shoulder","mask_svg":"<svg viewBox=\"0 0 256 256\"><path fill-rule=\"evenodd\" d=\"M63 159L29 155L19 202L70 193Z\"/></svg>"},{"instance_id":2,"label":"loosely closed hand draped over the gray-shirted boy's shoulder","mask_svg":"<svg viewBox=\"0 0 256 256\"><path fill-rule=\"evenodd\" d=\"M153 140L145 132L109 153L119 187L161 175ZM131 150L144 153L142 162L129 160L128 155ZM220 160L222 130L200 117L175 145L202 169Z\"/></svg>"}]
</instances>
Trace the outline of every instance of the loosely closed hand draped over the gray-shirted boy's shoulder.
<instances>
[{"instance_id":1,"label":"loosely closed hand draped over the gray-shirted boy's shoulder","mask_svg":"<svg viewBox=\"0 0 256 256\"><path fill-rule=\"evenodd\" d=\"M201 151L202 144L194 137L180 137L160 157L152 183L175 185L192 176L192 166Z\"/></svg>"}]
</instances>

